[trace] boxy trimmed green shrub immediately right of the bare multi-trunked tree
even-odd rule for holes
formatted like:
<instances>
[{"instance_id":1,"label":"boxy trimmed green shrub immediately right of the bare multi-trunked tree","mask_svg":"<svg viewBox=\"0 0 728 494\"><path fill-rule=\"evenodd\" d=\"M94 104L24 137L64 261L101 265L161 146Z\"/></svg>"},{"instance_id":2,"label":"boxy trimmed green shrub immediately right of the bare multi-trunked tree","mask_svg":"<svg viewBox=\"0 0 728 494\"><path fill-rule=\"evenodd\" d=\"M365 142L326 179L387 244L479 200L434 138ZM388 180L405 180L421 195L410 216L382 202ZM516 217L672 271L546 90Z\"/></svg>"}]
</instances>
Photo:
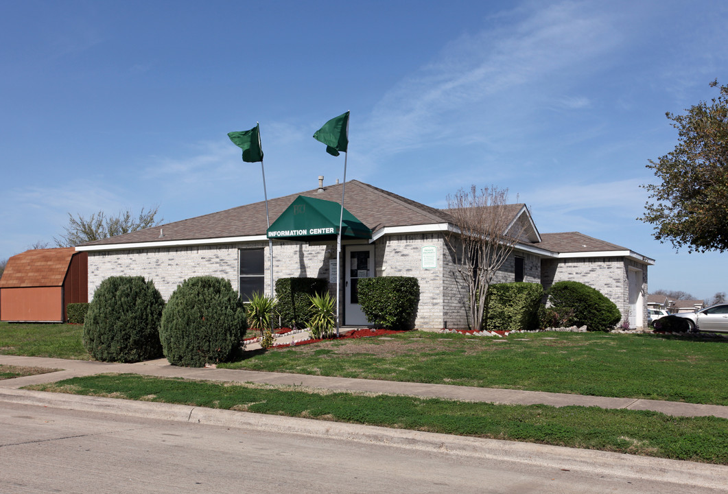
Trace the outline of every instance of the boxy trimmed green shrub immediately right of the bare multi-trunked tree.
<instances>
[{"instance_id":1,"label":"boxy trimmed green shrub immediately right of the bare multi-trunked tree","mask_svg":"<svg viewBox=\"0 0 728 494\"><path fill-rule=\"evenodd\" d=\"M496 283L488 287L484 326L489 331L535 330L544 295L538 283Z\"/></svg>"}]
</instances>

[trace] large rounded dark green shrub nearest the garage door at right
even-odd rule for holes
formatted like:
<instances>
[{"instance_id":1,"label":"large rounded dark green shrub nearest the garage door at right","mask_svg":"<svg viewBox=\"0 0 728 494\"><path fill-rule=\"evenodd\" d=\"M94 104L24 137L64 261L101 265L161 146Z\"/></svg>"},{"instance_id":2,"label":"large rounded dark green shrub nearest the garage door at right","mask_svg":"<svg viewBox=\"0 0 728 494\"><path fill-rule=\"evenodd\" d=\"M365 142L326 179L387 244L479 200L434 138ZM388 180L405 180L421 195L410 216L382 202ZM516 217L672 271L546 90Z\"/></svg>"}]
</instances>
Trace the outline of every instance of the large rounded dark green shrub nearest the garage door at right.
<instances>
[{"instance_id":1,"label":"large rounded dark green shrub nearest the garage door at right","mask_svg":"<svg viewBox=\"0 0 728 494\"><path fill-rule=\"evenodd\" d=\"M579 282L556 282L548 290L548 305L555 311L572 309L570 326L586 326L589 331L610 331L622 319L612 300L598 290Z\"/></svg>"}]
</instances>

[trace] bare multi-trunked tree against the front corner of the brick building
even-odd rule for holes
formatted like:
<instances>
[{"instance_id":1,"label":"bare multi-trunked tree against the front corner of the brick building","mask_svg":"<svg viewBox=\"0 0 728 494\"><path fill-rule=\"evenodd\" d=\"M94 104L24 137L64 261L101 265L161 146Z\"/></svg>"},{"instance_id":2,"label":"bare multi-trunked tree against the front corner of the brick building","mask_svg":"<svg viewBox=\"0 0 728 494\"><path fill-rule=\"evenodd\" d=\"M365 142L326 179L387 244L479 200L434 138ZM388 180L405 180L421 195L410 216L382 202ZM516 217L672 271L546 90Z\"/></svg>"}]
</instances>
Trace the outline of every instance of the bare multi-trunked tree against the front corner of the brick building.
<instances>
[{"instance_id":1,"label":"bare multi-trunked tree against the front corner of the brick building","mask_svg":"<svg viewBox=\"0 0 728 494\"><path fill-rule=\"evenodd\" d=\"M467 318L480 331L488 287L513 252L526 228L509 215L508 190L494 186L448 195L448 214L454 226L446 242L455 255L454 276L467 288Z\"/></svg>"}]
</instances>

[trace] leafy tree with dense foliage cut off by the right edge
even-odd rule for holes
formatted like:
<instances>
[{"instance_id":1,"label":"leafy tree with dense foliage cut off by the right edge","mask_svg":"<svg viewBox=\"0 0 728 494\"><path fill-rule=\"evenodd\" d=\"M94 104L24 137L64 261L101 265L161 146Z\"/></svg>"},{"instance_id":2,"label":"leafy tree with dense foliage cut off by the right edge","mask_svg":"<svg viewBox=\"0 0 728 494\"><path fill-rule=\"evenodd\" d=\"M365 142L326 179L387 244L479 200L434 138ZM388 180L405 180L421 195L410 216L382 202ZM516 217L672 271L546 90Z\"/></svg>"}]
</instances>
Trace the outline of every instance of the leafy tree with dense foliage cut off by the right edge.
<instances>
[{"instance_id":1,"label":"leafy tree with dense foliage cut off by the right edge","mask_svg":"<svg viewBox=\"0 0 728 494\"><path fill-rule=\"evenodd\" d=\"M718 81L711 82L717 87ZM711 103L701 101L684 115L666 113L678 130L675 149L647 168L660 183L649 191L644 216L654 238L688 252L728 249L728 85Z\"/></svg>"}]
</instances>

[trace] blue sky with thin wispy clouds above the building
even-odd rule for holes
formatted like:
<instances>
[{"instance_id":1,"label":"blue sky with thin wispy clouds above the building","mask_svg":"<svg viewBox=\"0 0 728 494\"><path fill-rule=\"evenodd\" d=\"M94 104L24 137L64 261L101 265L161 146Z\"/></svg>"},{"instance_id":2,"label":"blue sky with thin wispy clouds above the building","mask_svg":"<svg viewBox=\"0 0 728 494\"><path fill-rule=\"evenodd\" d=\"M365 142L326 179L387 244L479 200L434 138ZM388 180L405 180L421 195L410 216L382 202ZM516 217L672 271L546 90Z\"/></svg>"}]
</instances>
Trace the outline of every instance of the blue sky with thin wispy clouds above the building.
<instances>
[{"instance_id":1,"label":"blue sky with thin wispy clouds above the building","mask_svg":"<svg viewBox=\"0 0 728 494\"><path fill-rule=\"evenodd\" d=\"M261 125L269 197L343 178L312 134L351 111L347 179L433 207L498 186L542 233L657 260L651 290L728 291L728 254L636 220L666 111L728 82L724 1L0 0L0 258L68 212L166 222L263 199L227 138Z\"/></svg>"}]
</instances>

